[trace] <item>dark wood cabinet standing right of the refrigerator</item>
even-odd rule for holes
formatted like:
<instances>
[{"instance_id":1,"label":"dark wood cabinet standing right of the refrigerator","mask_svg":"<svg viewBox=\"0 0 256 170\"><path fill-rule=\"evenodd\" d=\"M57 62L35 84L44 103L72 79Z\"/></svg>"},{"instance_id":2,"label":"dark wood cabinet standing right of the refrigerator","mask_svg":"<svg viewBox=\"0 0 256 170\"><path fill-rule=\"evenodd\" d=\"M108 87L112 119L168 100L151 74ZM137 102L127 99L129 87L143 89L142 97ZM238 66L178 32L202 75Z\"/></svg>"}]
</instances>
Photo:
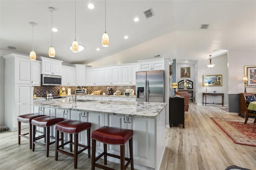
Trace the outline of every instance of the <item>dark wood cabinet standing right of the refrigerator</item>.
<instances>
[{"instance_id":1,"label":"dark wood cabinet standing right of the refrigerator","mask_svg":"<svg viewBox=\"0 0 256 170\"><path fill-rule=\"evenodd\" d=\"M184 97L170 97L169 99L169 125L182 124L184 128Z\"/></svg>"}]
</instances>

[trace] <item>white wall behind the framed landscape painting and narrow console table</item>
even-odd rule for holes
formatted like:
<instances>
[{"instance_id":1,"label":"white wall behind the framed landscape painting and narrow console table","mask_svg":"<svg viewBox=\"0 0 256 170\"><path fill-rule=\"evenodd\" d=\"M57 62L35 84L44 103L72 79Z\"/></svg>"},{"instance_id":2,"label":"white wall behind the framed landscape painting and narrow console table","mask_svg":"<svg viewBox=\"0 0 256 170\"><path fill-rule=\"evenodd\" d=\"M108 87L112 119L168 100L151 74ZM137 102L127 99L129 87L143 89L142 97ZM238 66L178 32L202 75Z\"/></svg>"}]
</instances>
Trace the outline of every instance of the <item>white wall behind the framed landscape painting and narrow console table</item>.
<instances>
[{"instance_id":1,"label":"white wall behind the framed landscape painting and narrow console table","mask_svg":"<svg viewBox=\"0 0 256 170\"><path fill-rule=\"evenodd\" d=\"M197 93L196 93L196 103L202 105L202 93L206 92L206 88L203 86L203 76L204 75L222 75L222 86L209 86L207 91L212 93L212 91L217 91L217 93L224 93L224 105L228 104L228 87L230 82L228 75L228 55L224 54L219 57L214 57L212 59L212 64L214 67L208 68L206 65L209 64L209 60L198 61L198 74L197 74ZM221 96L211 97L207 96L207 103L221 103Z\"/></svg>"}]
</instances>

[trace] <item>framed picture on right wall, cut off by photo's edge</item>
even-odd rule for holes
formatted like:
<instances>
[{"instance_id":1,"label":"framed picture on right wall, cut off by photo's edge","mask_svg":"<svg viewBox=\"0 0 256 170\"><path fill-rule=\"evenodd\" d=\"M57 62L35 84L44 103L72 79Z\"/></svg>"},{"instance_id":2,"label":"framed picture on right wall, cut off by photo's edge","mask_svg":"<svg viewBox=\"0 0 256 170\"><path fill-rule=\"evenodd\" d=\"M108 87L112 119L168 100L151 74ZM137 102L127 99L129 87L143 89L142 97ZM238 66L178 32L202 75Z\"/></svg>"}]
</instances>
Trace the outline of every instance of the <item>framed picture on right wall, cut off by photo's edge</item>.
<instances>
[{"instance_id":1,"label":"framed picture on right wall, cut off by photo's edge","mask_svg":"<svg viewBox=\"0 0 256 170\"><path fill-rule=\"evenodd\" d=\"M246 87L256 87L256 65L245 65L244 75L248 79Z\"/></svg>"}]
</instances>

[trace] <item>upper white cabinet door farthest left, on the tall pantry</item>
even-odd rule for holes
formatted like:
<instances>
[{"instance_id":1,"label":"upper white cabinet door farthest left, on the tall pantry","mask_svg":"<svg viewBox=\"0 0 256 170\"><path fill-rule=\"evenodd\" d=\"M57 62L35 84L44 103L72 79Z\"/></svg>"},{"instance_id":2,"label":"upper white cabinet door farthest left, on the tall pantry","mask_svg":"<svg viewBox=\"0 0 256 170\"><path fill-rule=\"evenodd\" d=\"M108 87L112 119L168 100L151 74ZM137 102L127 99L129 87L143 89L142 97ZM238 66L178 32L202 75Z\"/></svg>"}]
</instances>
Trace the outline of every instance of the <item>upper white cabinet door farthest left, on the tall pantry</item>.
<instances>
[{"instance_id":1,"label":"upper white cabinet door farthest left, on the tall pantry","mask_svg":"<svg viewBox=\"0 0 256 170\"><path fill-rule=\"evenodd\" d=\"M31 84L31 61L29 59L15 59L15 83Z\"/></svg>"}]
</instances>

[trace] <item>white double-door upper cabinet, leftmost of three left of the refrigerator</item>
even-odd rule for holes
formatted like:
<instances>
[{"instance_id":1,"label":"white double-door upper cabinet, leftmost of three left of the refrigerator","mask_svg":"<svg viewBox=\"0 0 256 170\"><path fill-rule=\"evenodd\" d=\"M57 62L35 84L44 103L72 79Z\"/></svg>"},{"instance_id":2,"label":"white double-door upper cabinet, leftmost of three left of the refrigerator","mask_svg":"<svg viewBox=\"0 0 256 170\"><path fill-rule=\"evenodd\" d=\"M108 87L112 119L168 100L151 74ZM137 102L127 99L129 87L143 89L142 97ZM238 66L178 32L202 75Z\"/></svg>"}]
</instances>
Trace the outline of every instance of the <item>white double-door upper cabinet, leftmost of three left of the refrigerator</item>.
<instances>
[{"instance_id":1,"label":"white double-door upper cabinet, leftmost of three left of the refrigerator","mask_svg":"<svg viewBox=\"0 0 256 170\"><path fill-rule=\"evenodd\" d=\"M86 69L87 85L102 85L102 68Z\"/></svg>"}]
</instances>

